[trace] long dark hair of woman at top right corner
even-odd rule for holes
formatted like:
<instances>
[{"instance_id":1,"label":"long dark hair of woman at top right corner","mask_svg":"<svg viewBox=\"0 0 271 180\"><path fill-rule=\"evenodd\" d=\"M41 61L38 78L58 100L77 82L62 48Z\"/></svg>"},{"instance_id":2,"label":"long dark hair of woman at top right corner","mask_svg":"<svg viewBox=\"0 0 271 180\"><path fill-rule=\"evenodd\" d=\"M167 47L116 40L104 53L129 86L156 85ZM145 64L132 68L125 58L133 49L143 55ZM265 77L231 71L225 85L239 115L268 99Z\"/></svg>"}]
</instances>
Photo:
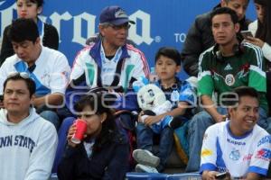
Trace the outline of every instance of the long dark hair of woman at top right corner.
<instances>
[{"instance_id":1,"label":"long dark hair of woman at top right corner","mask_svg":"<svg viewBox=\"0 0 271 180\"><path fill-rule=\"evenodd\" d=\"M271 1L270 0L254 0L254 3L260 4L264 7L263 23L257 21L256 38L265 41L271 45Z\"/></svg>"}]
</instances>

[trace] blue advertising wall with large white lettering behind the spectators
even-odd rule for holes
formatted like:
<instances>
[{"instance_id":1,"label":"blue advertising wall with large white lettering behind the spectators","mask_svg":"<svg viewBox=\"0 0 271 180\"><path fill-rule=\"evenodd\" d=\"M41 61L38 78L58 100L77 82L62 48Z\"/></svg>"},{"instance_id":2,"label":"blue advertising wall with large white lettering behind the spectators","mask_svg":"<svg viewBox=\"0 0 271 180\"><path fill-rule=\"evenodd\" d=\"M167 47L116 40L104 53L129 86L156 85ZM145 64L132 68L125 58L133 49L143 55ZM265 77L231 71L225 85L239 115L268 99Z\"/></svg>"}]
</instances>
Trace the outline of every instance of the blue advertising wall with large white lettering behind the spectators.
<instances>
[{"instance_id":1,"label":"blue advertising wall with large white lettering behind the spectators","mask_svg":"<svg viewBox=\"0 0 271 180\"><path fill-rule=\"evenodd\" d=\"M122 6L136 22L129 38L145 53L150 67L154 53L162 46L181 50L186 32L197 14L210 11L220 0L44 0L42 20L53 24L60 33L60 50L72 65L87 38L98 31L98 16L107 5ZM0 31L16 18L15 0L0 0ZM252 1L248 18L255 20ZM185 74L181 73L182 78Z\"/></svg>"}]
</instances>

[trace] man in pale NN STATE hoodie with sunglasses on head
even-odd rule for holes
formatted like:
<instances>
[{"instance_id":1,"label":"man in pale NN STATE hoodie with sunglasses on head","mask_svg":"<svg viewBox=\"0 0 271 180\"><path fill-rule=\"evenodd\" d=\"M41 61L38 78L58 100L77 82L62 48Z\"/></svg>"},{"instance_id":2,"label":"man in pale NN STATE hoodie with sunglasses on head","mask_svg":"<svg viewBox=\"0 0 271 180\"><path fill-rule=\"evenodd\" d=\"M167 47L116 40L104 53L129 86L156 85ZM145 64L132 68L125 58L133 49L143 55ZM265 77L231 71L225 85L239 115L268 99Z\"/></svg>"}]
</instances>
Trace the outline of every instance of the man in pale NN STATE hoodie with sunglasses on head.
<instances>
[{"instance_id":1,"label":"man in pale NN STATE hoodie with sunglasses on head","mask_svg":"<svg viewBox=\"0 0 271 180\"><path fill-rule=\"evenodd\" d=\"M35 83L14 72L4 83L0 110L0 179L47 180L58 144L57 132L34 108Z\"/></svg>"}]
</instances>

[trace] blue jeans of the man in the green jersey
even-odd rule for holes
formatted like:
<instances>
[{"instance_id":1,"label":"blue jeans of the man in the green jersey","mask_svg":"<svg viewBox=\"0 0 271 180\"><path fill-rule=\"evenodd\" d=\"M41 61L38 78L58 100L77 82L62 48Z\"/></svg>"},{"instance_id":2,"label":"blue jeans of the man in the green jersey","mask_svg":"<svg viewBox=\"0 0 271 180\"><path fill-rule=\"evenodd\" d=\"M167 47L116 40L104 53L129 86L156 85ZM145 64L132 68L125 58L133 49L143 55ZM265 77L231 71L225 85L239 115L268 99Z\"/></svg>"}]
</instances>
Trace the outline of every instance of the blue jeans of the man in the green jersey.
<instances>
[{"instance_id":1,"label":"blue jeans of the man in the green jersey","mask_svg":"<svg viewBox=\"0 0 271 180\"><path fill-rule=\"evenodd\" d=\"M227 109L218 108L221 114L228 114ZM211 118L208 112L202 111L194 115L188 127L188 141L189 141L189 160L186 166L186 172L195 172L200 170L201 166L201 146L205 130L215 121ZM271 130L270 118L266 117L266 111L259 109L259 120L257 124L266 129L269 133Z\"/></svg>"}]
</instances>

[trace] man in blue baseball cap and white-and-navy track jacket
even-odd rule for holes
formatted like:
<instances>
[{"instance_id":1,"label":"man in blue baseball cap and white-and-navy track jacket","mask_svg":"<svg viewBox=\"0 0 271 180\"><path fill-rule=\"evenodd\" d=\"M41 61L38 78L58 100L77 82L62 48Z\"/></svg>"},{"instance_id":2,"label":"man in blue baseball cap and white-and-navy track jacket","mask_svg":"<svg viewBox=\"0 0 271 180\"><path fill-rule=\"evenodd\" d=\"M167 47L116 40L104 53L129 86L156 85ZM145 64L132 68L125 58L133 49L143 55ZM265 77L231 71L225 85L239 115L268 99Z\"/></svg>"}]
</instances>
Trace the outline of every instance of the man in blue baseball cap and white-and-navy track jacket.
<instances>
[{"instance_id":1,"label":"man in blue baseball cap and white-and-navy track jacket","mask_svg":"<svg viewBox=\"0 0 271 180\"><path fill-rule=\"evenodd\" d=\"M80 50L73 63L65 94L70 112L76 114L73 104L94 87L105 87L120 95L120 101L111 106L116 110L138 111L136 94L131 87L139 77L149 75L149 67L144 53L126 41L131 24L135 22L129 20L119 6L107 6L102 10L98 24L101 38ZM66 118L61 130L65 131L65 127L69 127L73 120L71 117ZM132 119L121 118L121 121L126 129L134 128L135 121ZM58 148L57 154L61 154L62 150ZM55 160L54 167L59 161Z\"/></svg>"}]
</instances>

